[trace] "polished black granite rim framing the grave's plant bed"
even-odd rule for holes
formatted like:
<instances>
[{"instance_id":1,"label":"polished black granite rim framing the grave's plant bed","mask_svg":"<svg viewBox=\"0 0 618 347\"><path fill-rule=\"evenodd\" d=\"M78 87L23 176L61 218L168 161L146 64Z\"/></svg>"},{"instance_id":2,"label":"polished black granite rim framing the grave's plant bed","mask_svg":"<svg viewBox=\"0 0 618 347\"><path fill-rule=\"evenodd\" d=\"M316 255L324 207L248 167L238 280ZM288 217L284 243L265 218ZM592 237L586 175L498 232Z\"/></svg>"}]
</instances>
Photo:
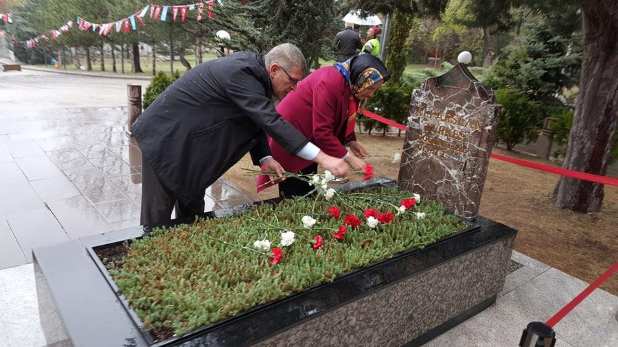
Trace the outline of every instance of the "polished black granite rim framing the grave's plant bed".
<instances>
[{"instance_id":1,"label":"polished black granite rim framing the grave's plant bed","mask_svg":"<svg viewBox=\"0 0 618 347\"><path fill-rule=\"evenodd\" d=\"M394 181L391 180L390 182ZM370 187L380 187L390 182L377 182L370 184ZM368 185L367 182L351 183L356 184L356 187L344 186L342 188L345 190L367 189ZM271 200L270 202L277 201L279 201L279 199ZM252 205L249 204L247 206L227 209L222 212L217 211L217 216L214 216L214 213L205 213L205 215L207 217L231 215L231 213L235 211L244 211L247 208L251 208L251 206ZM174 220L166 223L165 226L175 226L186 222L191 221ZM477 222L485 224L483 223L485 219L480 217ZM489 224L493 225L495 223L491 222ZM490 227L490 225L487 227ZM289 296L288 298L254 307L233 318L228 318L227 320L222 320L203 328L198 328L181 337L167 339L155 344L155 346L182 344L188 341L195 342L196 339L204 343L221 346L236 346L238 344L258 342L275 333L281 333L284 330L293 328L295 325L305 322L308 318L312 319L319 317L319 315L328 313L347 302L363 298L376 289L394 285L410 276L429 270L446 260L455 259L485 244L509 237L509 235L515 232L512 229L507 229L496 228L496 230L480 230L479 226L471 225L463 232L451 235L427 248L410 250L398 254L391 259L374 263L362 269L352 270L345 274L341 274L332 283L316 285L307 291ZM100 271L116 293L118 289L115 283L113 283L113 280L104 269L93 248L102 244L119 243L126 241L126 239L139 237L140 230L142 235L147 235L150 232L149 228L133 228L126 230L122 235L117 235L119 238L106 238L105 241L100 238L92 239L91 241L93 242L89 242L90 246L87 247L93 260L98 264ZM137 318L135 312L130 309L128 302L122 295L119 295L119 299L134 320L137 328L144 334L144 338L147 339L150 344L153 344L152 336L146 331L146 328L144 328L144 325ZM310 304L308 304L308 302L310 302ZM260 326L260 331L255 331L256 326ZM251 334L247 334L248 331L251 332Z\"/></svg>"}]
</instances>

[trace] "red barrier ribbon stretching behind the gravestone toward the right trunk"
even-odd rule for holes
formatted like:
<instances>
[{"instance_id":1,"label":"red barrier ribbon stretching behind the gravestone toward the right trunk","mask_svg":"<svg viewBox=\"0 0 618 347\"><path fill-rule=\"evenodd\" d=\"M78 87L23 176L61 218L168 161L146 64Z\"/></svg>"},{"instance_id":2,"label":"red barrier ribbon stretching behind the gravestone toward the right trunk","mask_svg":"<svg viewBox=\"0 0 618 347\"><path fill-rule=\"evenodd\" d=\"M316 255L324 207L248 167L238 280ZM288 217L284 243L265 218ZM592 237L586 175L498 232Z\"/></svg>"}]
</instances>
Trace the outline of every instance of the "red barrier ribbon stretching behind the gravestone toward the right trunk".
<instances>
[{"instance_id":1,"label":"red barrier ribbon stretching behind the gravestone toward the right trunk","mask_svg":"<svg viewBox=\"0 0 618 347\"><path fill-rule=\"evenodd\" d=\"M363 112L363 115L371 119L376 119L376 121L380 121L392 127L395 127L401 130L406 130L405 125L397 123L396 121L392 121L391 119L382 117L380 115L376 115L374 112L369 112L365 110L365 112ZM516 158L509 157L509 156L501 156L500 154L492 154L492 158L503 160L507 163L521 165L523 167L529 167L531 169L556 173L558 175L567 176L571 178L577 178L577 180L584 180L588 182L594 182L594 183L600 183L600 184L606 184L606 185L618 187L618 178L600 176L600 175L595 175L593 173L587 173L587 172L581 172L581 171L575 171L575 170L569 170L569 169L562 169L562 167L553 167L550 165L533 163L531 161L516 159Z\"/></svg>"}]
</instances>

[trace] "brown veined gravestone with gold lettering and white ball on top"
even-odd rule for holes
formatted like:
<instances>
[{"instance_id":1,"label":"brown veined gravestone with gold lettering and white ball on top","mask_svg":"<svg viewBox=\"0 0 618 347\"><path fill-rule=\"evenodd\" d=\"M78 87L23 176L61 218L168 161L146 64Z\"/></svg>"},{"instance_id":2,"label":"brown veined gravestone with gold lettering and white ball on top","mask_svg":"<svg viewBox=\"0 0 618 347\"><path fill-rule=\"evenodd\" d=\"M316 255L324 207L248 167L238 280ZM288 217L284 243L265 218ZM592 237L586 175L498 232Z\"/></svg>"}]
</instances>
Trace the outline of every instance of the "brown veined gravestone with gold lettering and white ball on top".
<instances>
[{"instance_id":1,"label":"brown veined gravestone with gold lettering and white ball on top","mask_svg":"<svg viewBox=\"0 0 618 347\"><path fill-rule=\"evenodd\" d=\"M466 68L471 59L462 52L453 69L413 91L398 178L400 189L467 219L479 213L500 109Z\"/></svg>"}]
</instances>

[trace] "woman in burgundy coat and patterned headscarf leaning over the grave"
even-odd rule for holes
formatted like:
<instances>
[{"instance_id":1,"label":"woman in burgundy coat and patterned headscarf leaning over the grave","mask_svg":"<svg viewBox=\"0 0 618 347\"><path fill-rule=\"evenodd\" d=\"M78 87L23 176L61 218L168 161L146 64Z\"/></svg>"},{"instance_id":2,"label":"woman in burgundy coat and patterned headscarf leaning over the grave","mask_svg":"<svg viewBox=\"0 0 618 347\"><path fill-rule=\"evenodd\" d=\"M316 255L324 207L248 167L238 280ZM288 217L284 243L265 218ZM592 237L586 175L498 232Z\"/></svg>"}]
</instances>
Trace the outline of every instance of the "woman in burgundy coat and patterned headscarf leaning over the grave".
<instances>
[{"instance_id":1,"label":"woman in burgundy coat and patterned headscarf leaning over the grave","mask_svg":"<svg viewBox=\"0 0 618 347\"><path fill-rule=\"evenodd\" d=\"M356 142L355 119L358 114L363 114L367 98L374 95L388 77L389 73L379 58L369 54L353 56L343 63L336 62L332 67L322 67L310 73L299 82L296 91L277 105L277 112L326 154L344 158L352 169L361 170L365 166L363 159L369 153ZM286 171L317 173L314 163L290 156L273 139L269 138L268 144L273 157ZM352 150L352 154L346 147ZM268 182L268 176L258 178L258 191L269 187L265 182ZM279 183L279 195L288 198L305 195L311 190L307 182L295 178Z\"/></svg>"}]
</instances>

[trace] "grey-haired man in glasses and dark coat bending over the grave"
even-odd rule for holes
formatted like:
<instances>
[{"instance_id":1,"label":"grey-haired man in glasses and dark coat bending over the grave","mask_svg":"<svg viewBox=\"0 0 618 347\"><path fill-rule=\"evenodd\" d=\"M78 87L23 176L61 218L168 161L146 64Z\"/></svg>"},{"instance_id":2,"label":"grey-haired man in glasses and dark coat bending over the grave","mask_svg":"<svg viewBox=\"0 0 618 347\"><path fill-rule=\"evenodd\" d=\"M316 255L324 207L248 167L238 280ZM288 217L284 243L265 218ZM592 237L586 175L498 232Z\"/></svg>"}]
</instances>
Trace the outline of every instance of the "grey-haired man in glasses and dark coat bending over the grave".
<instances>
[{"instance_id":1,"label":"grey-haired man in glasses and dark coat bending over the grave","mask_svg":"<svg viewBox=\"0 0 618 347\"><path fill-rule=\"evenodd\" d=\"M281 119L273 97L295 90L306 69L295 45L261 56L239 52L199 64L169 86L137 118L131 130L144 156L141 224L204 211L205 190L247 152L253 164L282 176L266 134L290 154L319 163L335 176L350 169L321 152Z\"/></svg>"}]
</instances>

